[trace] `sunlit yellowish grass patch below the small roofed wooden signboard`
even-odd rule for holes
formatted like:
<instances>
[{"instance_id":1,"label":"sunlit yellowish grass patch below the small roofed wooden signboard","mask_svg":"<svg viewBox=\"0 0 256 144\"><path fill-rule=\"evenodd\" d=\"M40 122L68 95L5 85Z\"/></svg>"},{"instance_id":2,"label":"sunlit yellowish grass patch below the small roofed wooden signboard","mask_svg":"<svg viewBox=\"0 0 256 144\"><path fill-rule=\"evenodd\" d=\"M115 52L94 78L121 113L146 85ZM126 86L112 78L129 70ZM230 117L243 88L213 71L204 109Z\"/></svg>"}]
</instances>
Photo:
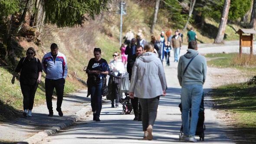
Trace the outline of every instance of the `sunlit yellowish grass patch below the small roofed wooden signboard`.
<instances>
[{"instance_id":1,"label":"sunlit yellowish grass patch below the small roofed wooden signboard","mask_svg":"<svg viewBox=\"0 0 256 144\"><path fill-rule=\"evenodd\" d=\"M246 56L243 54L243 56ZM210 60L207 61L207 65L211 67L218 68L236 68L243 72L253 72L256 71L256 65L240 65L238 59L238 53L210 53L205 55L206 58ZM244 62L245 63L245 62Z\"/></svg>"}]
</instances>

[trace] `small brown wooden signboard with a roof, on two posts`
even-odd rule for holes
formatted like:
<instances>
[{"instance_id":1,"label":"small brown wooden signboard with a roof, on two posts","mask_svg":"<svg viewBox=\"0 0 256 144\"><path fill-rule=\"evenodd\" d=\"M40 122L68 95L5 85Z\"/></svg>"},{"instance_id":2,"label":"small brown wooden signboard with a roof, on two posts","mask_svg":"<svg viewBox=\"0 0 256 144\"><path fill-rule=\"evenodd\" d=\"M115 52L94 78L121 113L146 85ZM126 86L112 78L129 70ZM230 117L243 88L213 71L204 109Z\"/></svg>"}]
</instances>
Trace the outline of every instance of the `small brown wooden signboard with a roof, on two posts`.
<instances>
[{"instance_id":1,"label":"small brown wooden signboard with a roof, on two posts","mask_svg":"<svg viewBox=\"0 0 256 144\"><path fill-rule=\"evenodd\" d=\"M239 29L236 33L239 33L239 55L242 56L242 47L250 47L250 55L253 55L253 34L256 33L254 29ZM250 34L250 35L243 35Z\"/></svg>"}]
</instances>

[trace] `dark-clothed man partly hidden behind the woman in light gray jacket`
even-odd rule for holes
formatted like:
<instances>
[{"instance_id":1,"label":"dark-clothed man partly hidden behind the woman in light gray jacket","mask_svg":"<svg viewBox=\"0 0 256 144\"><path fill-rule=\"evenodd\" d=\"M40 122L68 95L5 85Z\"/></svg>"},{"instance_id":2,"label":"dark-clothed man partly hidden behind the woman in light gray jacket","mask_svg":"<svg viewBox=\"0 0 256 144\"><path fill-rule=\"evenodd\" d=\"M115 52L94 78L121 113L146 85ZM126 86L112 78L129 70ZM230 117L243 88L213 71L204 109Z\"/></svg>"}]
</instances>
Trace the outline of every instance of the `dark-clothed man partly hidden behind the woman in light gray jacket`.
<instances>
[{"instance_id":1,"label":"dark-clothed man partly hidden behind the woman in light gray jacket","mask_svg":"<svg viewBox=\"0 0 256 144\"><path fill-rule=\"evenodd\" d=\"M131 80L131 75L132 75L132 67L135 63L135 60L138 56L140 56L143 52L142 46L137 46L136 47L136 53L131 57L127 64L127 72L129 73L129 80ZM131 105L133 108L133 113L135 115L135 118L133 119L134 121L142 121L141 119L141 105L139 103L138 98L131 98Z\"/></svg>"}]
</instances>

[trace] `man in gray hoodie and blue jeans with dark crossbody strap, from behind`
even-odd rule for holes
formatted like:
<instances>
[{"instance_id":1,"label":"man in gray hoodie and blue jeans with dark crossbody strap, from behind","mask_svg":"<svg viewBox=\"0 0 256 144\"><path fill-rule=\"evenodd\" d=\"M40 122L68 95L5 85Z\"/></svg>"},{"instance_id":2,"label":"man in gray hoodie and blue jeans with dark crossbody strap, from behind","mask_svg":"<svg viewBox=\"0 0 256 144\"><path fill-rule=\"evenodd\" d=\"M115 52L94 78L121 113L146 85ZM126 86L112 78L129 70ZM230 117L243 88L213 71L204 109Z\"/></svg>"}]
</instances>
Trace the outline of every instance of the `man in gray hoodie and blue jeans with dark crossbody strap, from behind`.
<instances>
[{"instance_id":1,"label":"man in gray hoodie and blue jeans with dark crossbody strap, from behind","mask_svg":"<svg viewBox=\"0 0 256 144\"><path fill-rule=\"evenodd\" d=\"M203 83L206 79L207 63L204 56L197 52L197 42L188 43L187 53L178 63L178 79L181 85L183 139L196 142L198 112L203 95ZM191 119L189 124L189 110Z\"/></svg>"}]
</instances>

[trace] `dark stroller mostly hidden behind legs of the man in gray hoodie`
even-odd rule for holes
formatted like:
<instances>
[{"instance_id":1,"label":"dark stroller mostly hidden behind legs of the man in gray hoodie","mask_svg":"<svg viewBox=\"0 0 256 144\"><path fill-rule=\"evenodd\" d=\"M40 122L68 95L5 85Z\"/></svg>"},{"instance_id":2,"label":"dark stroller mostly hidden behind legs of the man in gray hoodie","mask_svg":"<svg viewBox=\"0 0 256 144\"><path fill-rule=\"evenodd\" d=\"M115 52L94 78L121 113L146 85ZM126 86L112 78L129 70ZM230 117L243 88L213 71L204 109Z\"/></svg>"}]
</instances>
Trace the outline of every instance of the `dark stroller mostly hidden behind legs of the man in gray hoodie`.
<instances>
[{"instance_id":1,"label":"dark stroller mostly hidden behind legs of the man in gray hoodie","mask_svg":"<svg viewBox=\"0 0 256 144\"><path fill-rule=\"evenodd\" d=\"M204 124L204 105L203 105L203 99L204 99L204 95L202 95L202 100L201 100L201 104L200 104L200 109L199 109L199 117L198 117L198 122L197 122L197 131L196 131L196 135L199 136L200 141L204 141L204 131L205 131L205 124ZM179 108L181 110L182 113L182 105L179 105ZM191 110L189 113L189 118L191 118ZM183 131L183 126L181 126L181 130L180 130L180 134L179 134L179 140L181 140L181 137L183 137L184 133Z\"/></svg>"}]
</instances>

